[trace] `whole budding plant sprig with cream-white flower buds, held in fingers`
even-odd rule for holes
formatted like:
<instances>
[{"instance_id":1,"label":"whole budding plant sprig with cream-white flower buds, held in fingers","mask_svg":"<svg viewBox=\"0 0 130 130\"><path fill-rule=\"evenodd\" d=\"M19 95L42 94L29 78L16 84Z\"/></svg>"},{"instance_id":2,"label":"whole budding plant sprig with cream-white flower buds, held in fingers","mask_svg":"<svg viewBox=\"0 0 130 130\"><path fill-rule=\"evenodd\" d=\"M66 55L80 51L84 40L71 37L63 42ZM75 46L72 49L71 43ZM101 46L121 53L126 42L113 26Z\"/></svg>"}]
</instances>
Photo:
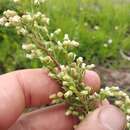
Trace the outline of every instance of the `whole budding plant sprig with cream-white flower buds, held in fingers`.
<instances>
[{"instance_id":1,"label":"whole budding plant sprig with cream-white flower buds, held in fingers","mask_svg":"<svg viewBox=\"0 0 130 130\"><path fill-rule=\"evenodd\" d=\"M63 40L58 40L61 29L49 32L48 17L41 12L18 15L13 10L7 10L0 18L0 25L15 27L17 33L25 38L22 48L27 52L26 57L39 59L49 70L49 76L61 85L62 91L52 94L50 99L52 104L68 104L65 115L74 115L83 120L90 111L96 109L96 102L112 100L126 114L127 128L130 129L129 96L115 86L93 93L82 79L85 71L94 65L86 65L82 57L76 56L73 48L78 47L79 43L70 40L67 34Z\"/></svg>"}]
</instances>

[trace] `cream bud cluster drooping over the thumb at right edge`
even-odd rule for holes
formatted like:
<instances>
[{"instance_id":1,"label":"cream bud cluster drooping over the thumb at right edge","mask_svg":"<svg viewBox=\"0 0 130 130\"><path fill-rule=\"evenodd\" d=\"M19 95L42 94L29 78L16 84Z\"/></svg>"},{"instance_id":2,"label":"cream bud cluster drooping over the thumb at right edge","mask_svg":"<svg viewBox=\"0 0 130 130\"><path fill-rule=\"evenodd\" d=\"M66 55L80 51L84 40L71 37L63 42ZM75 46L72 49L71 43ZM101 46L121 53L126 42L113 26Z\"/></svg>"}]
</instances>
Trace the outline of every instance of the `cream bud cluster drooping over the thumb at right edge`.
<instances>
[{"instance_id":1,"label":"cream bud cluster drooping over the thumb at right edge","mask_svg":"<svg viewBox=\"0 0 130 130\"><path fill-rule=\"evenodd\" d=\"M127 115L127 127L130 128L130 98L129 96L121 91L119 87L106 87L105 89L101 89L100 93L97 94L101 100L112 98L113 104L121 108L121 110Z\"/></svg>"}]
</instances>

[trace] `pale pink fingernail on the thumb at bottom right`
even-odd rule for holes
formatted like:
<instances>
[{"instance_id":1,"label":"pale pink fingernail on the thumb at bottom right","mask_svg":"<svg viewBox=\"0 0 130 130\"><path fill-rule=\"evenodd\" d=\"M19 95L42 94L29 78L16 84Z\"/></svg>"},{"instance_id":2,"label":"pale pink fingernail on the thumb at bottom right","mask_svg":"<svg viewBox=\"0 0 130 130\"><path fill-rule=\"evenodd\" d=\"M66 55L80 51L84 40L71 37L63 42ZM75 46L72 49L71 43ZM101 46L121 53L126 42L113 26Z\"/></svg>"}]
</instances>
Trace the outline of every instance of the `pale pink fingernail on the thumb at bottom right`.
<instances>
[{"instance_id":1,"label":"pale pink fingernail on the thumb at bottom right","mask_svg":"<svg viewBox=\"0 0 130 130\"><path fill-rule=\"evenodd\" d=\"M105 130L124 130L126 118L118 108L109 105L105 106L99 113L99 121Z\"/></svg>"}]
</instances>

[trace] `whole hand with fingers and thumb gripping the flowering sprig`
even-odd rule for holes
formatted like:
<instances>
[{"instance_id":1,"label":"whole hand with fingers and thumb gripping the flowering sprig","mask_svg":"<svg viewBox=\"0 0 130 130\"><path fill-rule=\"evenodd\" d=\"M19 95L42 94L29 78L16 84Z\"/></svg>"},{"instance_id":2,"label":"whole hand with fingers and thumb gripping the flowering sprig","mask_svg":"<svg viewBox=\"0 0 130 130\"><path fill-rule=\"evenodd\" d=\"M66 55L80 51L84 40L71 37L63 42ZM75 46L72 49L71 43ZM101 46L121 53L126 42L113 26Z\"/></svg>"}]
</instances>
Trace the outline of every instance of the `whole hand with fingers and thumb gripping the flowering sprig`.
<instances>
[{"instance_id":1,"label":"whole hand with fingers and thumb gripping the flowering sprig","mask_svg":"<svg viewBox=\"0 0 130 130\"><path fill-rule=\"evenodd\" d=\"M84 82L100 88L100 78L87 71ZM54 105L22 114L25 107L50 103L49 95L60 86L42 69L22 70L0 76L0 130L72 130L78 121L64 115L66 106ZM92 112L76 130L123 130L125 116L112 105L103 105Z\"/></svg>"}]
</instances>

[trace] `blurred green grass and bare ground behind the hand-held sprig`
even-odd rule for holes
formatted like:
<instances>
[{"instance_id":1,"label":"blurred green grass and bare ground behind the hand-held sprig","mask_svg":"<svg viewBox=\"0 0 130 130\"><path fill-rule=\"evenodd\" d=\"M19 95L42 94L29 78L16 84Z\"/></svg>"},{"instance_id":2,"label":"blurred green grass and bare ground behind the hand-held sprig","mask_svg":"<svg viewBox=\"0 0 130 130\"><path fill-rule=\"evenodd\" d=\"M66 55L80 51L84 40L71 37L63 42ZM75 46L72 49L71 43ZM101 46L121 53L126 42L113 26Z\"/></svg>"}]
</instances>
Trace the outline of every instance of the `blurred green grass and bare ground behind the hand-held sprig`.
<instances>
[{"instance_id":1,"label":"blurred green grass and bare ground behind the hand-held sprig","mask_svg":"<svg viewBox=\"0 0 130 130\"><path fill-rule=\"evenodd\" d=\"M24 13L31 7L29 0L0 0L0 15L7 9ZM80 43L76 53L97 66L103 84L130 86L129 0L46 0L35 11L50 18L50 30L61 28ZM0 74L40 67L25 58L22 42L14 29L0 27Z\"/></svg>"}]
</instances>

